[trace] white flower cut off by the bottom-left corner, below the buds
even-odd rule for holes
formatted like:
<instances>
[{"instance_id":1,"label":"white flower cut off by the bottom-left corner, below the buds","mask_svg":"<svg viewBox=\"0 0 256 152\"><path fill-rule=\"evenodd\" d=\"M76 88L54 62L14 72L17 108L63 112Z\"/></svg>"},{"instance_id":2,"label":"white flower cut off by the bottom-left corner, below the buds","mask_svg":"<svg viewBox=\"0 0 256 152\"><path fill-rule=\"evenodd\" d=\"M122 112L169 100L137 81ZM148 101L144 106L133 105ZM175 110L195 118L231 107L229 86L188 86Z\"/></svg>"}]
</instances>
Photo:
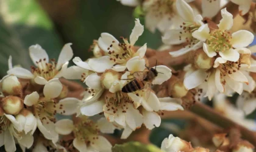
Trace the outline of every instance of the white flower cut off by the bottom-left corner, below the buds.
<instances>
[{"instance_id":1,"label":"white flower cut off by the bottom-left corner, below the buds","mask_svg":"<svg viewBox=\"0 0 256 152\"><path fill-rule=\"evenodd\" d=\"M23 126L10 114L0 116L0 126L0 147L4 145L6 151L16 151L14 137L23 130Z\"/></svg>"}]
</instances>

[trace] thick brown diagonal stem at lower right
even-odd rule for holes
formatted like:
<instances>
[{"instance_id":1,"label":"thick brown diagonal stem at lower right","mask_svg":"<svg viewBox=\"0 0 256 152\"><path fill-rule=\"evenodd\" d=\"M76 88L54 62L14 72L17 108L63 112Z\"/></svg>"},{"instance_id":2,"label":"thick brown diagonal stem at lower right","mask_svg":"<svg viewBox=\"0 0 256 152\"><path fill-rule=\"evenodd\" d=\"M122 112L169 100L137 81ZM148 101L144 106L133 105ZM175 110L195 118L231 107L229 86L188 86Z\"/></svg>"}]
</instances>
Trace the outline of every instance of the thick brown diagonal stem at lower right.
<instances>
[{"instance_id":1,"label":"thick brown diagonal stem at lower right","mask_svg":"<svg viewBox=\"0 0 256 152\"><path fill-rule=\"evenodd\" d=\"M218 112L214 111L209 106L206 106L200 102L196 102L191 108L190 111L207 119L208 121L215 123L222 128L238 128L241 131L243 139L248 140L249 142L256 147L256 134L253 131L248 130L244 126L238 125L230 119L222 116Z\"/></svg>"}]
</instances>

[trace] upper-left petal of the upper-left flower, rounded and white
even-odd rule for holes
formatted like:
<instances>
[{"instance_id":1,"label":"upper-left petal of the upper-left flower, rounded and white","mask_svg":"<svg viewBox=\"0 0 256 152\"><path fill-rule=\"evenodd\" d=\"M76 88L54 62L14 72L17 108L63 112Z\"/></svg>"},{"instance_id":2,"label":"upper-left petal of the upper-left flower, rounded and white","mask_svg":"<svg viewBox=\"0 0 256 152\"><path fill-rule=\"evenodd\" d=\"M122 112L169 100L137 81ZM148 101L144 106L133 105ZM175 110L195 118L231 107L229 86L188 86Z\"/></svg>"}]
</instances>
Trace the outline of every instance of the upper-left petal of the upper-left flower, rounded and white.
<instances>
[{"instance_id":1,"label":"upper-left petal of the upper-left flower, rounded and white","mask_svg":"<svg viewBox=\"0 0 256 152\"><path fill-rule=\"evenodd\" d=\"M32 61L36 66L38 66L37 62L41 60L44 60L45 62L49 62L49 57L46 51L38 44L35 44L34 46L29 47L29 55Z\"/></svg>"}]
</instances>

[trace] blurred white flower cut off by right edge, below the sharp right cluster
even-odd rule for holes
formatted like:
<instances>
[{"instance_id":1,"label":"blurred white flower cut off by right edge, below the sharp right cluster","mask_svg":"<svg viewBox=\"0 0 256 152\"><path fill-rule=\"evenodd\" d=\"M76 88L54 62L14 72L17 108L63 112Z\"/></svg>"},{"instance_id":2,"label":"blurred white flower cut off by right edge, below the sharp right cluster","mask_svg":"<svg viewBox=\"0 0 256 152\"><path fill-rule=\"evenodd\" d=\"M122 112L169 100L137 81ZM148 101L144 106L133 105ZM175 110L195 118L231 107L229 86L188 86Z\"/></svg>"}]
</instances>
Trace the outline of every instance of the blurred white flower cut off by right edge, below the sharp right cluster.
<instances>
[{"instance_id":1,"label":"blurred white flower cut off by right edge, below the sharp right cluster","mask_svg":"<svg viewBox=\"0 0 256 152\"><path fill-rule=\"evenodd\" d=\"M243 92L243 94L236 100L236 105L244 111L244 114L251 114L256 109L255 92L252 92L251 94Z\"/></svg>"}]
</instances>

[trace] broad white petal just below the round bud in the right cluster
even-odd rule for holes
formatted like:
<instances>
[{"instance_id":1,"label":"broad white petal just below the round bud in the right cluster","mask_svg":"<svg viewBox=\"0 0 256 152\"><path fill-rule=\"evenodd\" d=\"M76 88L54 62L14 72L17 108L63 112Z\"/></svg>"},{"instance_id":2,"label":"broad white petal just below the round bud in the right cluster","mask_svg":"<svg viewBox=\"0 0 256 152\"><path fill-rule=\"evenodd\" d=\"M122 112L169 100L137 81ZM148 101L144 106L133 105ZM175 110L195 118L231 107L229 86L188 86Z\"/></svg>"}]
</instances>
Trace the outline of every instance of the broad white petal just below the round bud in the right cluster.
<instances>
[{"instance_id":1,"label":"broad white petal just below the round bud in the right cluster","mask_svg":"<svg viewBox=\"0 0 256 152\"><path fill-rule=\"evenodd\" d=\"M193 89L197 86L201 85L207 78L207 73L201 69L194 71L192 74L188 75L188 77L184 80L184 86L186 89Z\"/></svg>"}]
</instances>

